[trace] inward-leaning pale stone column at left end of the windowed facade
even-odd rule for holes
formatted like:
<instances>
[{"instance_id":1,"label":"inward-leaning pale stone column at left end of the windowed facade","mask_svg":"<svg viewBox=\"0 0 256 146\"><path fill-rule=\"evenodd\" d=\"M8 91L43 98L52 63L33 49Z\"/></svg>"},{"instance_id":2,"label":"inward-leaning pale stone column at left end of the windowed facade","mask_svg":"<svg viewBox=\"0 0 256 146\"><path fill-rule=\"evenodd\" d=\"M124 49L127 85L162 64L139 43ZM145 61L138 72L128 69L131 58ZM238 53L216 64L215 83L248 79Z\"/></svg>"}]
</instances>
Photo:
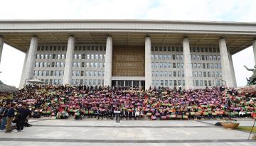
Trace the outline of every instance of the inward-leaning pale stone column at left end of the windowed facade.
<instances>
[{"instance_id":1,"label":"inward-leaning pale stone column at left end of the windowed facade","mask_svg":"<svg viewBox=\"0 0 256 146\"><path fill-rule=\"evenodd\" d=\"M26 57L26 67L25 67L25 71L23 72L23 79L20 84L26 84L26 79L31 79L33 77L37 47L38 47L38 38L33 36L31 38L31 43L28 49L28 55Z\"/></svg>"}]
</instances>

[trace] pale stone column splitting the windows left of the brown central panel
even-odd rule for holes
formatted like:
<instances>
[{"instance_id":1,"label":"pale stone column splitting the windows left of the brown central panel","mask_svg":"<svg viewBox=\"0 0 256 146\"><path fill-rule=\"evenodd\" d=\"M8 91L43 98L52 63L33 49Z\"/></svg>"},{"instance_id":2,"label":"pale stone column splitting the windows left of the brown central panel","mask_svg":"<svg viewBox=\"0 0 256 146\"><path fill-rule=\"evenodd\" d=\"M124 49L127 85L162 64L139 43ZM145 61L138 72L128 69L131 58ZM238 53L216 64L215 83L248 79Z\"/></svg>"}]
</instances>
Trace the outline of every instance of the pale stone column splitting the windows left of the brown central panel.
<instances>
[{"instance_id":1,"label":"pale stone column splitting the windows left of the brown central panel","mask_svg":"<svg viewBox=\"0 0 256 146\"><path fill-rule=\"evenodd\" d=\"M75 38L73 36L69 36L66 59L65 59L65 68L64 68L64 74L63 74L63 84L71 84L74 49L75 49Z\"/></svg>"}]
</instances>

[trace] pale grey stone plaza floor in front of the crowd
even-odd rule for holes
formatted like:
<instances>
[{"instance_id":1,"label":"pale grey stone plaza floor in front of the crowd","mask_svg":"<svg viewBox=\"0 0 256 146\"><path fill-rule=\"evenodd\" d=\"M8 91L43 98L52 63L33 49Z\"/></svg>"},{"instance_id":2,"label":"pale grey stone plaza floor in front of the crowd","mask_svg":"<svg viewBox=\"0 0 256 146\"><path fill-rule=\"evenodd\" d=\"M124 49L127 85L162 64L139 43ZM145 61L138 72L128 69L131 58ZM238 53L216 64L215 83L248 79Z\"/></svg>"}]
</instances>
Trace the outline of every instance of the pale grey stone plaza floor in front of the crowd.
<instances>
[{"instance_id":1,"label":"pale grey stone plaza floor in front of the crowd","mask_svg":"<svg viewBox=\"0 0 256 146\"><path fill-rule=\"evenodd\" d=\"M0 145L256 145L250 133L225 129L218 120L31 119L21 133L0 132ZM239 120L251 126L254 120Z\"/></svg>"}]
</instances>

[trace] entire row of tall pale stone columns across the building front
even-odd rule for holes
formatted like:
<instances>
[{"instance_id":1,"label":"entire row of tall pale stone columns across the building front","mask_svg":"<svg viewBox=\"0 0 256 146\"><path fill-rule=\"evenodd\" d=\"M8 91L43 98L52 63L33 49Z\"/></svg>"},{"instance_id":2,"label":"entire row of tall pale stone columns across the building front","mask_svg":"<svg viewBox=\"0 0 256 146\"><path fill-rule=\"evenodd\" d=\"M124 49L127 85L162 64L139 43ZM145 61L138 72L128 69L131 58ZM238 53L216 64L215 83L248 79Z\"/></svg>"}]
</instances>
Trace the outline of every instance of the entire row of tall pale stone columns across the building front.
<instances>
[{"instance_id":1,"label":"entire row of tall pale stone columns across the building front","mask_svg":"<svg viewBox=\"0 0 256 146\"><path fill-rule=\"evenodd\" d=\"M0 37L0 62L1 62L1 52L3 50L4 38ZM253 52L255 56L256 63L256 40L252 42ZM38 47L38 38L36 36L31 38L31 43L29 45L28 51L26 52L26 57L23 63L23 71L21 75L20 88L25 84L26 79L31 79L33 77L33 70L35 64L36 50ZM219 40L220 47L220 57L222 64L223 80L226 82L227 86L236 86L235 82L235 72L233 67L233 60L227 45L225 43L225 38ZM75 49L75 38L70 36L68 38L68 48L66 52L65 68L63 75L63 84L71 83L72 74L72 63L73 54ZM191 67L191 53L189 47L188 38L183 39L183 63L185 72L185 89L193 88L193 75ZM147 36L145 38L145 89L149 89L152 86L152 74L151 74L151 38ZM105 76L104 85L111 86L112 83L112 37L107 36L106 43L106 56L105 56Z\"/></svg>"}]
</instances>

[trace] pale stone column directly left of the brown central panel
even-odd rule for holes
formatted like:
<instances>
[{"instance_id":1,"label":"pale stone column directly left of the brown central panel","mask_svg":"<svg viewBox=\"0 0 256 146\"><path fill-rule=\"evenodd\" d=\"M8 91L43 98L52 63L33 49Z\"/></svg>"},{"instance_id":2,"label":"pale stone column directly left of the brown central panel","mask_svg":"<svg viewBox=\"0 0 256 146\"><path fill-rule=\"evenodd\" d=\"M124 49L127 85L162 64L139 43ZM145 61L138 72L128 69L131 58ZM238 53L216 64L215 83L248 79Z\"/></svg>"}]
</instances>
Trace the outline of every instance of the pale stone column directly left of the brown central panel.
<instances>
[{"instance_id":1,"label":"pale stone column directly left of the brown central panel","mask_svg":"<svg viewBox=\"0 0 256 146\"><path fill-rule=\"evenodd\" d=\"M105 57L105 69L104 69L104 86L111 86L112 77L112 36L107 36L106 43L106 57Z\"/></svg>"}]
</instances>

